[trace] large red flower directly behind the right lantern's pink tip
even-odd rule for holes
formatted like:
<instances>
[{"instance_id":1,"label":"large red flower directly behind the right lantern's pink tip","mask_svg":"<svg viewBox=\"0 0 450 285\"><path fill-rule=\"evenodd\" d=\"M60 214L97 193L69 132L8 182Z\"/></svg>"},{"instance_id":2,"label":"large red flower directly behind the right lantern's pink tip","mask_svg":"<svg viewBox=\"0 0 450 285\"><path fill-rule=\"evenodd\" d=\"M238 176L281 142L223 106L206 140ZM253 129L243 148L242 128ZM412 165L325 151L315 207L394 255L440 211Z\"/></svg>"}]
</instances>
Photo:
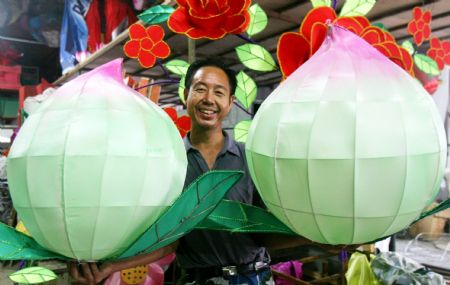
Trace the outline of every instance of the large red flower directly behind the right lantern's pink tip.
<instances>
[{"instance_id":1,"label":"large red flower directly behind the right lantern's pink tip","mask_svg":"<svg viewBox=\"0 0 450 285\"><path fill-rule=\"evenodd\" d=\"M371 26L362 16L337 17L330 7L318 7L308 12L298 33L287 32L278 40L277 57L283 78L307 61L322 45L327 35L327 23L344 27L359 35L411 75L413 60L408 51L395 43L394 37Z\"/></svg>"}]
</instances>

